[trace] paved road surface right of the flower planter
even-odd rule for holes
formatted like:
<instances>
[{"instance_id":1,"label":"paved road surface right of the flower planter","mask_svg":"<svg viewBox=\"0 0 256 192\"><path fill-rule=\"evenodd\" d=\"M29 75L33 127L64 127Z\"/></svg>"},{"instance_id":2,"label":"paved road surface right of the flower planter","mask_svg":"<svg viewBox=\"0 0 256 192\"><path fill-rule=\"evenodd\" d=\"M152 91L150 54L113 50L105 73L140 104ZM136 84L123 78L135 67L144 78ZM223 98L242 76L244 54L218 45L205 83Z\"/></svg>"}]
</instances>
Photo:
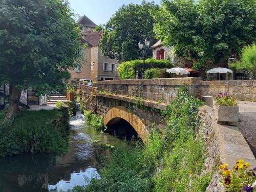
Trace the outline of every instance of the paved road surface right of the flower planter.
<instances>
[{"instance_id":1,"label":"paved road surface right of the flower planter","mask_svg":"<svg viewBox=\"0 0 256 192\"><path fill-rule=\"evenodd\" d=\"M239 106L238 128L256 157L256 102L237 101Z\"/></svg>"}]
</instances>

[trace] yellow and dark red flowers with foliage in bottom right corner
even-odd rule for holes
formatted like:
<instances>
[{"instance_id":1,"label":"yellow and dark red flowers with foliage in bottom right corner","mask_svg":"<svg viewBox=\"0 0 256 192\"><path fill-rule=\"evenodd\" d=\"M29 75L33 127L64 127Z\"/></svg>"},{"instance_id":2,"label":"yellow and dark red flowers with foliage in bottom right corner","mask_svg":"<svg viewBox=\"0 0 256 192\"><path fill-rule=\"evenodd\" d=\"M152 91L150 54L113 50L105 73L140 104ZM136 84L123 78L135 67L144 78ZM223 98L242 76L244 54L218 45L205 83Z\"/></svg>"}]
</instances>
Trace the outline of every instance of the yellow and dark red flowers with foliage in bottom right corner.
<instances>
[{"instance_id":1,"label":"yellow and dark red flowers with foliage in bottom right corner","mask_svg":"<svg viewBox=\"0 0 256 192\"><path fill-rule=\"evenodd\" d=\"M228 164L220 165L219 171L223 176L223 184L227 191L256 191L256 167L249 169L250 164L240 159L232 170L227 168Z\"/></svg>"}]
</instances>

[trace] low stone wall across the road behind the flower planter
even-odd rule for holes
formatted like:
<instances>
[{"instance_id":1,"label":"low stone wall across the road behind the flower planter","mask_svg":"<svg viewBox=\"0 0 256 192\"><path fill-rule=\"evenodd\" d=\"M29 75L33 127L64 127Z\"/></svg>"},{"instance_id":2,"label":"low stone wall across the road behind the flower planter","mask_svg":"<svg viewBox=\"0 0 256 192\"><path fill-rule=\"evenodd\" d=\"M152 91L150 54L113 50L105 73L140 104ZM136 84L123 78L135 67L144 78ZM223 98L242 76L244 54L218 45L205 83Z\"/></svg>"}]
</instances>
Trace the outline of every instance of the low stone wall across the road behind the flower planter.
<instances>
[{"instance_id":1,"label":"low stone wall across the road behind the flower planter","mask_svg":"<svg viewBox=\"0 0 256 192\"><path fill-rule=\"evenodd\" d=\"M203 96L215 96L220 92L229 92L236 100L255 102L256 80L202 82Z\"/></svg>"}]
</instances>

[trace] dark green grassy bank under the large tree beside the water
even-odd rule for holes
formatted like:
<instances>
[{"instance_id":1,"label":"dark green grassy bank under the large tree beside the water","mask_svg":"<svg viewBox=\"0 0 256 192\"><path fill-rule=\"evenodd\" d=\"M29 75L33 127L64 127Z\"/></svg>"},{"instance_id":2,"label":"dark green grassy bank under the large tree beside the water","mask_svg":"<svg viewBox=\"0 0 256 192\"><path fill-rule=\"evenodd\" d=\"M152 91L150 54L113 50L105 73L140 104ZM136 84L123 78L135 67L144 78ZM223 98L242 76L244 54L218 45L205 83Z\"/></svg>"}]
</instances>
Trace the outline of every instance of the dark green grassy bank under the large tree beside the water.
<instances>
[{"instance_id":1,"label":"dark green grassy bank under the large tree beside the water","mask_svg":"<svg viewBox=\"0 0 256 192\"><path fill-rule=\"evenodd\" d=\"M0 121L5 114L2 112ZM8 123L8 122L6 122ZM58 110L22 111L9 132L0 125L0 157L23 153L62 153L68 149L67 117Z\"/></svg>"}]
</instances>

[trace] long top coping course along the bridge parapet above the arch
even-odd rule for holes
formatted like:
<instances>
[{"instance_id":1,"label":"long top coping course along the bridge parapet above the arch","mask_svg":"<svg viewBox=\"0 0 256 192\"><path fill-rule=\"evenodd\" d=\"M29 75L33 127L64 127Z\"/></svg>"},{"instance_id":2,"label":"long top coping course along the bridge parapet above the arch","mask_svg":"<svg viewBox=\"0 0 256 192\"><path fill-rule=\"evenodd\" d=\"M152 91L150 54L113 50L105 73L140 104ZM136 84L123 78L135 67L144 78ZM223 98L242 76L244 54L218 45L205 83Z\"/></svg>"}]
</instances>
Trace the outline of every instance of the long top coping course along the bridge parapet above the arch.
<instances>
[{"instance_id":1,"label":"long top coping course along the bridge parapet above the arch","mask_svg":"<svg viewBox=\"0 0 256 192\"><path fill-rule=\"evenodd\" d=\"M159 78L159 79L126 79L126 80L108 80L98 81L99 85L110 84L127 84L127 85L146 85L155 84L160 86L200 86L202 85L201 77L185 77L185 78Z\"/></svg>"}]
</instances>

